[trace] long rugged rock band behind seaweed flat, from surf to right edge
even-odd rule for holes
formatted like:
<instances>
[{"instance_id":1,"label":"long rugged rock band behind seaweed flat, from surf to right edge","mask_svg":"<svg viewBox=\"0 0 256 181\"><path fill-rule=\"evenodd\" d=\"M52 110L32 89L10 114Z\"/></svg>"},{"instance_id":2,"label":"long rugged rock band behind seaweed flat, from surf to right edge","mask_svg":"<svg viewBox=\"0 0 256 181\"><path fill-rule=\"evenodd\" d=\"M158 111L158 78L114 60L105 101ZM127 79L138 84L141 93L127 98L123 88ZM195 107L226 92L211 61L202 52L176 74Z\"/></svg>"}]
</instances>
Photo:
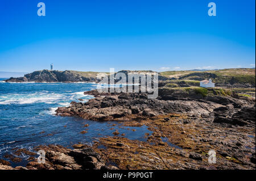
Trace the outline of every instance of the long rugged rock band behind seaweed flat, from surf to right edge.
<instances>
[{"instance_id":1,"label":"long rugged rock band behind seaweed flat, from surf to right edge","mask_svg":"<svg viewBox=\"0 0 256 181\"><path fill-rule=\"evenodd\" d=\"M147 99L146 93L87 91L85 94L96 98L86 103L72 102L70 107L60 107L56 112L61 116L79 116L96 121L139 120L169 113L197 116L213 113L216 123L244 125L247 124L246 121L255 122L251 117L255 115L255 99L241 100L236 95L204 97L200 94L189 95L179 91L170 93L166 90L159 91L157 99Z\"/></svg>"}]
</instances>

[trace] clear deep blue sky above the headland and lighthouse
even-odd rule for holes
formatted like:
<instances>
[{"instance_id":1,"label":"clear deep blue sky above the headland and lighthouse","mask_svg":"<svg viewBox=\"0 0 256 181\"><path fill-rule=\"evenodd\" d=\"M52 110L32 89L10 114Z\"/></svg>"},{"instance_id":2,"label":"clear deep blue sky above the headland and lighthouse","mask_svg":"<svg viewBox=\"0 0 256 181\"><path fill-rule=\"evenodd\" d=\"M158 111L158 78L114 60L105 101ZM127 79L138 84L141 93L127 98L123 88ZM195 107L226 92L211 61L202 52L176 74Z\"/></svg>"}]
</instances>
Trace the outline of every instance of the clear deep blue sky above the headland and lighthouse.
<instances>
[{"instance_id":1,"label":"clear deep blue sky above the headland and lighthouse","mask_svg":"<svg viewBox=\"0 0 256 181\"><path fill-rule=\"evenodd\" d=\"M37 4L46 4L38 16ZM208 3L217 16L208 16ZM0 71L255 67L255 1L1 0Z\"/></svg>"}]
</instances>

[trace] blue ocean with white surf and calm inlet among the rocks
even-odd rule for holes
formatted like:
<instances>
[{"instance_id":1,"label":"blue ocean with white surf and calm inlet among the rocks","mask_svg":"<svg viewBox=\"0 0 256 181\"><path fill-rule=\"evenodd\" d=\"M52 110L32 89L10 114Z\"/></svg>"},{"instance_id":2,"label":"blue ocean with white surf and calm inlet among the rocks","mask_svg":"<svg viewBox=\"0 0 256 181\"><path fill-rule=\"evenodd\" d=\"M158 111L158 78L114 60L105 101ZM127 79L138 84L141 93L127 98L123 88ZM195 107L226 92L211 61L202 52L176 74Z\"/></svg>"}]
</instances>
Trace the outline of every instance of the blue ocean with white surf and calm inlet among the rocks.
<instances>
[{"instance_id":1,"label":"blue ocean with white surf and calm inlet among the rocks","mask_svg":"<svg viewBox=\"0 0 256 181\"><path fill-rule=\"evenodd\" d=\"M38 145L57 144L67 148L78 143L92 145L99 137L113 136L115 130L131 140L146 141L144 134L152 133L146 126L137 127L133 132L134 127L124 127L114 121L55 115L57 107L92 99L93 96L84 95L84 91L96 89L96 83L6 83L3 79L0 78L0 159L12 166L26 166L28 162L28 155L14 155L17 148L34 151ZM84 128L85 124L89 127ZM81 134L85 129L88 133ZM20 157L22 161L12 162L5 155Z\"/></svg>"}]
</instances>

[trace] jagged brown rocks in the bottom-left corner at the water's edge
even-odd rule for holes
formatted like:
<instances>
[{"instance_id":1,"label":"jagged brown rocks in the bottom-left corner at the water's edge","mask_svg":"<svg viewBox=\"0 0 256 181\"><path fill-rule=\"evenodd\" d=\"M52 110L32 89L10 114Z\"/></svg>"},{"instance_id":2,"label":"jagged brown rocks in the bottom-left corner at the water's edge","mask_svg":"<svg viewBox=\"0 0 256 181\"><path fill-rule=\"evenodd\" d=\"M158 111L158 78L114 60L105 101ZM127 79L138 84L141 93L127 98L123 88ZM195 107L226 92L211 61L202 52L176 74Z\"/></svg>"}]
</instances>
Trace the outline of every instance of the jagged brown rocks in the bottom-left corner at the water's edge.
<instances>
[{"instance_id":1,"label":"jagged brown rocks in the bottom-left corner at the water's edge","mask_svg":"<svg viewBox=\"0 0 256 181\"><path fill-rule=\"evenodd\" d=\"M9 170L80 170L80 169L101 169L105 166L104 159L93 148L83 145L83 149L68 149L60 145L38 146L35 151L45 152L45 162L38 162L34 159L27 163L26 167L8 167L10 163L0 161L0 169ZM86 148L85 148L86 147ZM41 159L40 159L41 160Z\"/></svg>"}]
</instances>

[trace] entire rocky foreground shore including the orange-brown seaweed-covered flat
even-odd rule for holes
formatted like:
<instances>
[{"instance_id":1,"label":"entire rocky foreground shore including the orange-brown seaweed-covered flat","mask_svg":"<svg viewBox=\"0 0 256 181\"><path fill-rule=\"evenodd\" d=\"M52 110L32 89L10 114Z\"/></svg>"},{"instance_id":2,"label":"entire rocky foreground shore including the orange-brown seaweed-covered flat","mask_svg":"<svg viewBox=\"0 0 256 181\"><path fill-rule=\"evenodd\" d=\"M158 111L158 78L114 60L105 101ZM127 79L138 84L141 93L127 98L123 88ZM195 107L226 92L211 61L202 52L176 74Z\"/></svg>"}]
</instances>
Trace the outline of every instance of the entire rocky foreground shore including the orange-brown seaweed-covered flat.
<instances>
[{"instance_id":1,"label":"entire rocky foreground shore including the orange-brown seaweed-covered flat","mask_svg":"<svg viewBox=\"0 0 256 181\"><path fill-rule=\"evenodd\" d=\"M46 163L12 168L0 161L0 169L255 169L255 98L169 89L159 89L157 99L146 93L84 94L95 98L72 102L56 114L120 121L134 131L146 125L152 134L139 141L115 131L73 150L39 146L35 150L46 150ZM216 163L208 163L209 150L216 151Z\"/></svg>"}]
</instances>

